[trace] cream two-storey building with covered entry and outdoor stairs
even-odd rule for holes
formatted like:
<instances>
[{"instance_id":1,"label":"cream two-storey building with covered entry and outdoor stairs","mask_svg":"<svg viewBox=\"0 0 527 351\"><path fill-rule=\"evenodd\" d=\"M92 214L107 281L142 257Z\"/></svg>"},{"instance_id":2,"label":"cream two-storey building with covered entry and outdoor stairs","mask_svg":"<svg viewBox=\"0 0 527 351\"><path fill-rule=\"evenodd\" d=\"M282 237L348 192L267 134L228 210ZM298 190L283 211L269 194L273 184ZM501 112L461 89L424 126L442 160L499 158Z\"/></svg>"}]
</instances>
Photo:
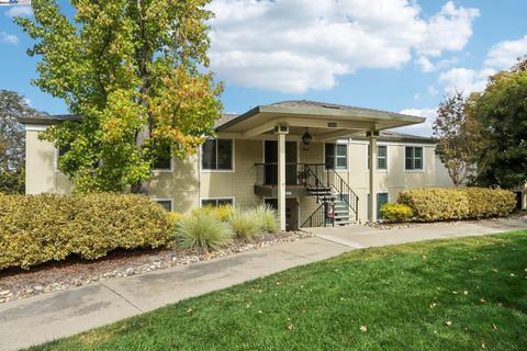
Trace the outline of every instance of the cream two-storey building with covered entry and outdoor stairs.
<instances>
[{"instance_id":1,"label":"cream two-storey building with covered entry and outdoor stairs","mask_svg":"<svg viewBox=\"0 0 527 351\"><path fill-rule=\"evenodd\" d=\"M59 151L38 133L76 115L20 118L26 131L26 193L69 193ZM312 101L227 114L215 139L184 159L159 160L148 195L168 211L205 205L278 210L282 229L374 222L411 188L451 186L431 138L391 132L425 118ZM373 194L373 195L370 195Z\"/></svg>"}]
</instances>

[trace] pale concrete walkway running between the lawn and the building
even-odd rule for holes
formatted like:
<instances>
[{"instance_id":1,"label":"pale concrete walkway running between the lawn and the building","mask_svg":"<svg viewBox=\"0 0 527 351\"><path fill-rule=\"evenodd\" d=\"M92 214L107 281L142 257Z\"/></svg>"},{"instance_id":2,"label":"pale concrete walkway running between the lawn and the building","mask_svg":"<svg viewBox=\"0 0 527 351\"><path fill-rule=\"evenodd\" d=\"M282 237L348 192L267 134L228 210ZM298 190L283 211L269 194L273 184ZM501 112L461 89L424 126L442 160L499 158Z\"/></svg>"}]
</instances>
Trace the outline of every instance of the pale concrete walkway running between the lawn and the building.
<instances>
[{"instance_id":1,"label":"pale concrete walkway running between the lawn and the building","mask_svg":"<svg viewBox=\"0 0 527 351\"><path fill-rule=\"evenodd\" d=\"M519 229L527 229L527 219L392 230L365 226L313 228L315 237L296 242L1 304L0 350L71 336L354 249Z\"/></svg>"}]
</instances>

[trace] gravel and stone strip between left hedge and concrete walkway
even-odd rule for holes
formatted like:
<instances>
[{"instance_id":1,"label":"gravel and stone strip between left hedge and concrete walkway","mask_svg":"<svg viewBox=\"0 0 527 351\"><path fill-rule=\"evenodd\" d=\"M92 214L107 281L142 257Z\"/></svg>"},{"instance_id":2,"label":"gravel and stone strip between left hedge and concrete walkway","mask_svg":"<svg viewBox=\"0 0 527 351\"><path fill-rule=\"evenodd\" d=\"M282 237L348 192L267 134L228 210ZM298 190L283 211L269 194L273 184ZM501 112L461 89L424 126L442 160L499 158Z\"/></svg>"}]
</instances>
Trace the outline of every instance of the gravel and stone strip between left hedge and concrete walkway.
<instances>
[{"instance_id":1,"label":"gravel and stone strip between left hedge and concrete walkway","mask_svg":"<svg viewBox=\"0 0 527 351\"><path fill-rule=\"evenodd\" d=\"M69 258L66 261L45 263L29 271L8 269L0 272L0 303L168 267L195 263L311 236L306 231L289 231L266 235L254 242L238 241L213 252L179 249L120 250L96 261Z\"/></svg>"}]
</instances>

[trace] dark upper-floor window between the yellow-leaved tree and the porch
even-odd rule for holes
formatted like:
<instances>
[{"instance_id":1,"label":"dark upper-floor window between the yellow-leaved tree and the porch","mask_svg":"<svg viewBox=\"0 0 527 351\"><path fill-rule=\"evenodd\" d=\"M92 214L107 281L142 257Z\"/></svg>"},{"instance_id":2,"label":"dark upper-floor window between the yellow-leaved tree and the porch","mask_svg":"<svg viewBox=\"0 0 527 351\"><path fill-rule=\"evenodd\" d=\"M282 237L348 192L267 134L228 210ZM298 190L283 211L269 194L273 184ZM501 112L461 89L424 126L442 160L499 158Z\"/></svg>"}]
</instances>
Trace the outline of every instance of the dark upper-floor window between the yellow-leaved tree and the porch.
<instances>
[{"instance_id":1,"label":"dark upper-floor window between the yellow-leaved tree and the porch","mask_svg":"<svg viewBox=\"0 0 527 351\"><path fill-rule=\"evenodd\" d=\"M206 170L233 169L233 140L209 139L202 148L201 168Z\"/></svg>"}]
</instances>

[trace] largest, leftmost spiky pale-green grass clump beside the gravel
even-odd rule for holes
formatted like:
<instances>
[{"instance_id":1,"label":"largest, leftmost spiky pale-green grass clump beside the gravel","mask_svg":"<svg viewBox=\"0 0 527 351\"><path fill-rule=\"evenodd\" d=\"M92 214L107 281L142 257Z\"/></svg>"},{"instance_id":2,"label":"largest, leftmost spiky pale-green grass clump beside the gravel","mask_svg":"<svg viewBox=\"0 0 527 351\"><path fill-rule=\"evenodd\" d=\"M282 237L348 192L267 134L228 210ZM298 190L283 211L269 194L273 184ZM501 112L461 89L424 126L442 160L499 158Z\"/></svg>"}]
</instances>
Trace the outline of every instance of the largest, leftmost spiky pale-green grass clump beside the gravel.
<instances>
[{"instance_id":1,"label":"largest, leftmost spiky pale-green grass clump beside the gravel","mask_svg":"<svg viewBox=\"0 0 527 351\"><path fill-rule=\"evenodd\" d=\"M212 212L195 213L178 222L173 238L181 249L217 250L232 242L231 226Z\"/></svg>"}]
</instances>

